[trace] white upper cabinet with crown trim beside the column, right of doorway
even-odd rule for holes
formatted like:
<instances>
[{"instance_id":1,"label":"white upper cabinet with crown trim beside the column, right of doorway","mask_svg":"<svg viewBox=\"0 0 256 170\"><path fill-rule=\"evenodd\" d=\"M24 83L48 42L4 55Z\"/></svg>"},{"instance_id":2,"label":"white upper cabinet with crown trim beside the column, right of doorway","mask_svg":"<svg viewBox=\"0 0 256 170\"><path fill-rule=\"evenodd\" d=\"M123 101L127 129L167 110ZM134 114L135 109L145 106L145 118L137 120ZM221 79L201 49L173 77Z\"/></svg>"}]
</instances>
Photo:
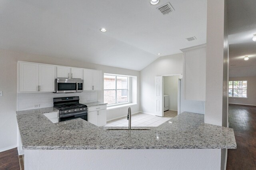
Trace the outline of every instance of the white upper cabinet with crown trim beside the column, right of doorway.
<instances>
[{"instance_id":1,"label":"white upper cabinet with crown trim beside the column, right of doorway","mask_svg":"<svg viewBox=\"0 0 256 170\"><path fill-rule=\"evenodd\" d=\"M206 44L183 52L183 78L185 100L205 101L206 94Z\"/></svg>"}]
</instances>

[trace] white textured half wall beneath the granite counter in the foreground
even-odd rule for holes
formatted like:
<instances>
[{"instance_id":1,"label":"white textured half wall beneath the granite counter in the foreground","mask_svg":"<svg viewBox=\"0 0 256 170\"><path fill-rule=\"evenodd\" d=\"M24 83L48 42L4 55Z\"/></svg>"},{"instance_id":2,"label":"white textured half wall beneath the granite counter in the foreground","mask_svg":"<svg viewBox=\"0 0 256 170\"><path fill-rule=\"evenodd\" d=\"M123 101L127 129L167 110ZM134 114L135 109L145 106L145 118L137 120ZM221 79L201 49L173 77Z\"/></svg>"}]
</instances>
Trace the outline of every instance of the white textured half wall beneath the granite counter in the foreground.
<instances>
[{"instance_id":1,"label":"white textured half wall beneath the granite counter in the foreground","mask_svg":"<svg viewBox=\"0 0 256 170\"><path fill-rule=\"evenodd\" d=\"M25 150L24 166L26 170L220 170L220 150Z\"/></svg>"}]
</instances>

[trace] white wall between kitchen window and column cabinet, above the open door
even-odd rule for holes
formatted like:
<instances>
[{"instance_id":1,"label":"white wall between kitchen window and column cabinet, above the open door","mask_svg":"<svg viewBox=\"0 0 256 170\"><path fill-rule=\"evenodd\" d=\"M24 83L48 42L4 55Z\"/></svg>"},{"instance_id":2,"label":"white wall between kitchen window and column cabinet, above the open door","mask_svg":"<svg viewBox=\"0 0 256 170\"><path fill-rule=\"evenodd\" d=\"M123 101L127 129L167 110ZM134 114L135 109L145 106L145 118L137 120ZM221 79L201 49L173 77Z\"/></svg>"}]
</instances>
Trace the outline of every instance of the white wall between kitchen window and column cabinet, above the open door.
<instances>
[{"instance_id":1,"label":"white wall between kitchen window and column cabinet, above the open door","mask_svg":"<svg viewBox=\"0 0 256 170\"><path fill-rule=\"evenodd\" d=\"M182 57L182 53L160 57L140 71L140 111L154 113L154 78L182 74Z\"/></svg>"}]
</instances>

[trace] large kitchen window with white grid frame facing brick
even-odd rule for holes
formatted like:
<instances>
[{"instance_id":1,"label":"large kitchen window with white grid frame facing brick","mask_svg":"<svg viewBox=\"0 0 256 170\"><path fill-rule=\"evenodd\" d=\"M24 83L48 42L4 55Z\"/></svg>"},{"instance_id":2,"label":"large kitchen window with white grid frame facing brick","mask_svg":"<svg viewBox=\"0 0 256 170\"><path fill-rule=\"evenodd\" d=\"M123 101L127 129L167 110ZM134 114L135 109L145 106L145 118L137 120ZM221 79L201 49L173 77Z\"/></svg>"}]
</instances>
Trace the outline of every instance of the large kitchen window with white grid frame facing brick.
<instances>
[{"instance_id":1,"label":"large kitchen window with white grid frame facing brick","mask_svg":"<svg viewBox=\"0 0 256 170\"><path fill-rule=\"evenodd\" d=\"M128 102L128 76L104 74L104 103Z\"/></svg>"}]
</instances>

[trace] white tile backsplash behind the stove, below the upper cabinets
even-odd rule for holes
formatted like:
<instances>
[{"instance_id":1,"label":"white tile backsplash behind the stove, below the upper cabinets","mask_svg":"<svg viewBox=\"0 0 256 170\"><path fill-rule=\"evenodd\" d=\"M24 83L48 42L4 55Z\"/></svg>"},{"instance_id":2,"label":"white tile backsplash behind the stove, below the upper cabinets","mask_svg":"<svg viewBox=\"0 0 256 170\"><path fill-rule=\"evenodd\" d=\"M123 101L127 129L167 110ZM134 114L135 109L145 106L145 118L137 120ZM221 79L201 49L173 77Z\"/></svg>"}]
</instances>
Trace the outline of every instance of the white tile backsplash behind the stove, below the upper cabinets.
<instances>
[{"instance_id":1,"label":"white tile backsplash behind the stove, below the upper cabinets","mask_svg":"<svg viewBox=\"0 0 256 170\"><path fill-rule=\"evenodd\" d=\"M35 105L40 105L38 108L52 107L53 98L79 96L79 103L97 102L96 91L81 92L81 93L18 93L18 110L35 109Z\"/></svg>"}]
</instances>

